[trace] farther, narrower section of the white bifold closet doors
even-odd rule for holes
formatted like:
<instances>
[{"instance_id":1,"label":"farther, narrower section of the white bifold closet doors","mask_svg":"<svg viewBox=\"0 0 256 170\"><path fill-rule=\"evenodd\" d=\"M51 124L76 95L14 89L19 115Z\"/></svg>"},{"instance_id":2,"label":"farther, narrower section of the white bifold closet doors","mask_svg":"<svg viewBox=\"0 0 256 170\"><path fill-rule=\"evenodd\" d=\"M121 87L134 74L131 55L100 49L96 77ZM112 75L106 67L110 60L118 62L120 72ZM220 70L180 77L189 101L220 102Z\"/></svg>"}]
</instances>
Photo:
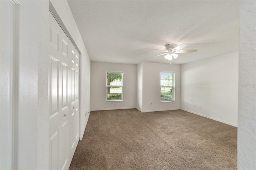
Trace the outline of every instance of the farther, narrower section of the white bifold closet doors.
<instances>
[{"instance_id":1,"label":"farther, narrower section of the white bifold closet doors","mask_svg":"<svg viewBox=\"0 0 256 170\"><path fill-rule=\"evenodd\" d=\"M70 155L73 157L79 141L79 53L70 45Z\"/></svg>"}]
</instances>

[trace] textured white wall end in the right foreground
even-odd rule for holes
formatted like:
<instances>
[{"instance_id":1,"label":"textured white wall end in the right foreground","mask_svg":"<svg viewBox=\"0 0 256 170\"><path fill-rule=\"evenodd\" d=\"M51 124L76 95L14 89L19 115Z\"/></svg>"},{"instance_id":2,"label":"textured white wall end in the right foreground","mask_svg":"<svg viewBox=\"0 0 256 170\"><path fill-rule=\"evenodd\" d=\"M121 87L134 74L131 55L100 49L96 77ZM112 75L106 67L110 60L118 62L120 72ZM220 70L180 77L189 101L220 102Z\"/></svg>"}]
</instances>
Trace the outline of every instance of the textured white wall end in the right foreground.
<instances>
[{"instance_id":1,"label":"textured white wall end in the right foreground","mask_svg":"<svg viewBox=\"0 0 256 170\"><path fill-rule=\"evenodd\" d=\"M256 169L256 1L240 1L238 170Z\"/></svg>"}]
</instances>

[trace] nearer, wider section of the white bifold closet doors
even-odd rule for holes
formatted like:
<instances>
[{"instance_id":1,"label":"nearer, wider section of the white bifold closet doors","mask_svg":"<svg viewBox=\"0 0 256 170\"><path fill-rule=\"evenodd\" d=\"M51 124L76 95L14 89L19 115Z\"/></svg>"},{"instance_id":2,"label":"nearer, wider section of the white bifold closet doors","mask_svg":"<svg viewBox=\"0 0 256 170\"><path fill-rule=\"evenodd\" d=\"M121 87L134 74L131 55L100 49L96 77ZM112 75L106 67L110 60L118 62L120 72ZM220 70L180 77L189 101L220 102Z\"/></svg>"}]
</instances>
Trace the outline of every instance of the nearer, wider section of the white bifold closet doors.
<instances>
[{"instance_id":1,"label":"nearer, wider section of the white bifold closet doors","mask_svg":"<svg viewBox=\"0 0 256 170\"><path fill-rule=\"evenodd\" d=\"M50 13L49 169L70 166L70 40Z\"/></svg>"}]
</instances>

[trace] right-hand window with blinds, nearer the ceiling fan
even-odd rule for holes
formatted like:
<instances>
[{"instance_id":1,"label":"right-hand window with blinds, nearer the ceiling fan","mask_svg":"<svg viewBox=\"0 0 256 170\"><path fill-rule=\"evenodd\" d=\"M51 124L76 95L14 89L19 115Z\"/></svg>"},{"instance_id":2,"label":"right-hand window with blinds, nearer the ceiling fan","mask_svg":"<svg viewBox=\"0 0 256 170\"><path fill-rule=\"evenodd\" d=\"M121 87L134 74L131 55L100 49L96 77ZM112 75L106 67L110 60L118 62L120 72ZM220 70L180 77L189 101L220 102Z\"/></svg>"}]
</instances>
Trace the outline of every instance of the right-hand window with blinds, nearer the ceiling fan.
<instances>
[{"instance_id":1,"label":"right-hand window with blinds, nearer the ceiling fan","mask_svg":"<svg viewBox=\"0 0 256 170\"><path fill-rule=\"evenodd\" d=\"M175 74L161 72L160 81L160 101L174 101Z\"/></svg>"}]
</instances>

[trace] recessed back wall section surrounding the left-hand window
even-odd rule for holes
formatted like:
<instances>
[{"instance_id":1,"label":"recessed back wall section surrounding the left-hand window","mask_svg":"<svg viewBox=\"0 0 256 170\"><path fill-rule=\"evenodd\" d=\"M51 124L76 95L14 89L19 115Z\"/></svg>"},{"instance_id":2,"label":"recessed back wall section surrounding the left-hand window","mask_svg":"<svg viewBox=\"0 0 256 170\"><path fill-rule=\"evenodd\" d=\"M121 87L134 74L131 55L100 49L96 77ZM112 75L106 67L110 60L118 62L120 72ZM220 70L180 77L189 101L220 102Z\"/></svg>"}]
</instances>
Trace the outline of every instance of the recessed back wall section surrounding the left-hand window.
<instances>
[{"instance_id":1,"label":"recessed back wall section surrounding the left-hand window","mask_svg":"<svg viewBox=\"0 0 256 170\"><path fill-rule=\"evenodd\" d=\"M122 71L123 101L106 101L106 72ZM116 105L116 106L114 106ZM91 110L136 108L136 65L91 63Z\"/></svg>"}]
</instances>

